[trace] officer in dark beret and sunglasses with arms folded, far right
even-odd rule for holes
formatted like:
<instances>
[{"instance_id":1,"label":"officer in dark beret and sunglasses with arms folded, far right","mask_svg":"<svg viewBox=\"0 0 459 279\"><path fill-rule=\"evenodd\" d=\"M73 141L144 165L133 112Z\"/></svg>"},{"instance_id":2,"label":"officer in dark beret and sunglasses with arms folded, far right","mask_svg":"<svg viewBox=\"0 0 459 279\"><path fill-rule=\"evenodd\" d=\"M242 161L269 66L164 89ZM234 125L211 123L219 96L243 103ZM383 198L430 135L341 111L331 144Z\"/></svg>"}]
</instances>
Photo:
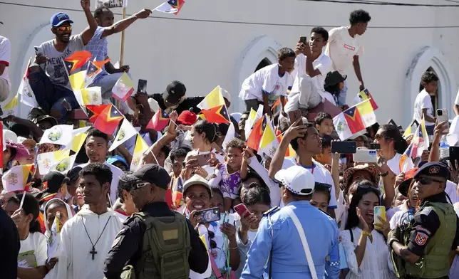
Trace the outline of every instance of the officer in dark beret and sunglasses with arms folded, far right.
<instances>
[{"instance_id":1,"label":"officer in dark beret and sunglasses with arms folded, far right","mask_svg":"<svg viewBox=\"0 0 459 279\"><path fill-rule=\"evenodd\" d=\"M447 178L448 167L440 162L418 169L411 184L418 211L408 226L397 225L388 234L388 246L403 260L406 278L448 278L450 256L459 246L459 220L446 199Z\"/></svg>"}]
</instances>

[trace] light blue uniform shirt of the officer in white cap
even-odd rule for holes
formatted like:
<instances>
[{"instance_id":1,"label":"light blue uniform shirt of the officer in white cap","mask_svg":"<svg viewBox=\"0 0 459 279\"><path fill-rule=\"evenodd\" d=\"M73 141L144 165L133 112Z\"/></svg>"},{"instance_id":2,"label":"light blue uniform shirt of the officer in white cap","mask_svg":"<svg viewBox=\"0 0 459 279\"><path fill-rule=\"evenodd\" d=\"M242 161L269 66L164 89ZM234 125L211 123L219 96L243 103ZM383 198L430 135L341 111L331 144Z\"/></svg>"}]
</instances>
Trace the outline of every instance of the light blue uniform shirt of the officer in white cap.
<instances>
[{"instance_id":1,"label":"light blue uniform shirt of the officer in white cap","mask_svg":"<svg viewBox=\"0 0 459 279\"><path fill-rule=\"evenodd\" d=\"M339 278L339 231L336 221L311 206L309 201L292 201L287 206L303 226L317 278ZM273 279L311 278L299 233L284 209L264 216L259 223L241 278L259 279L264 272L269 273L271 251Z\"/></svg>"}]
</instances>

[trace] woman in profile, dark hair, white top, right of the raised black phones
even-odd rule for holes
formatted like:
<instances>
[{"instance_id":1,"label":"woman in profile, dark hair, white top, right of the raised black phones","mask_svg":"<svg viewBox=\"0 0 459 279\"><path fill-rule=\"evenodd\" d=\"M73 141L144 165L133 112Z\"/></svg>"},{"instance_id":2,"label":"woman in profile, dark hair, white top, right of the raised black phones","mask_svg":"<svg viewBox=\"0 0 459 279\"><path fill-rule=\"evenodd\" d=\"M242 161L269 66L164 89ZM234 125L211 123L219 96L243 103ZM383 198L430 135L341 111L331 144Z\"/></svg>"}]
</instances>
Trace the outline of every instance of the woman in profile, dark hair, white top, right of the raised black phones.
<instances>
[{"instance_id":1,"label":"woman in profile, dark hair, white top, right of the raised black phones","mask_svg":"<svg viewBox=\"0 0 459 279\"><path fill-rule=\"evenodd\" d=\"M400 159L408 148L408 143L403 139L398 127L382 125L376 132L375 141L381 145L380 156L387 160L391 171L396 175L400 174Z\"/></svg>"}]
</instances>

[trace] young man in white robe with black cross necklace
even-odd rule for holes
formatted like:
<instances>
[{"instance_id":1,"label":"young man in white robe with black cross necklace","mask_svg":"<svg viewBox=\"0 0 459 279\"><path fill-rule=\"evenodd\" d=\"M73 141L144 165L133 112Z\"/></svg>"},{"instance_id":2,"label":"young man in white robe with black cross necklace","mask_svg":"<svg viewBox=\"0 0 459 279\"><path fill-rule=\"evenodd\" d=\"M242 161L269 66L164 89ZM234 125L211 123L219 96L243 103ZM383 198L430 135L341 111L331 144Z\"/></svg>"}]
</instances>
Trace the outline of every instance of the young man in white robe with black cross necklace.
<instances>
[{"instance_id":1,"label":"young man in white robe with black cross necklace","mask_svg":"<svg viewBox=\"0 0 459 279\"><path fill-rule=\"evenodd\" d=\"M105 164L88 164L80 172L79 187L86 206L61 231L61 254L46 278L103 279L103 263L123 227L107 209L112 172Z\"/></svg>"}]
</instances>

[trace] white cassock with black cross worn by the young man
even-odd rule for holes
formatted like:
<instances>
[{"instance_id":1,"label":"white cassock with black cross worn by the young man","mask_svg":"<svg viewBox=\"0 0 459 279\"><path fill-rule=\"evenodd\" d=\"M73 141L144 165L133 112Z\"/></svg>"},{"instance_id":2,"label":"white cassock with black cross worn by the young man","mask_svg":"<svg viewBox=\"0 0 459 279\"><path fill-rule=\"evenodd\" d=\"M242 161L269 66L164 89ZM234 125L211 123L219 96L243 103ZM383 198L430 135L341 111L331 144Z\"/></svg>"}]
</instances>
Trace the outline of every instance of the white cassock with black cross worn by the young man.
<instances>
[{"instance_id":1,"label":"white cassock with black cross worn by the young man","mask_svg":"<svg viewBox=\"0 0 459 279\"><path fill-rule=\"evenodd\" d=\"M103 263L121 228L114 211L98 215L83 206L63 226L58 263L45 278L103 279Z\"/></svg>"}]
</instances>

